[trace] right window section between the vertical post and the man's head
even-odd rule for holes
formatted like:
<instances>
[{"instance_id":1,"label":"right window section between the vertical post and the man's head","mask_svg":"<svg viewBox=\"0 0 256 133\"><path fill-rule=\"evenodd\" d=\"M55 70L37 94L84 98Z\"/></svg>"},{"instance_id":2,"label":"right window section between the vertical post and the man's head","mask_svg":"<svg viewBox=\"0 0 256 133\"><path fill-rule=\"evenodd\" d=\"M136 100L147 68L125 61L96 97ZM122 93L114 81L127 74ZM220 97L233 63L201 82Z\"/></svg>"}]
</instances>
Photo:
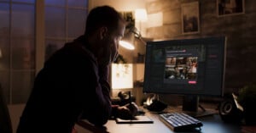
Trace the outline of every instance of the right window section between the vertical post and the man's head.
<instances>
[{"instance_id":1,"label":"right window section between the vertical post and the man's head","mask_svg":"<svg viewBox=\"0 0 256 133\"><path fill-rule=\"evenodd\" d=\"M88 1L45 0L45 59L84 33L87 12Z\"/></svg>"}]
</instances>

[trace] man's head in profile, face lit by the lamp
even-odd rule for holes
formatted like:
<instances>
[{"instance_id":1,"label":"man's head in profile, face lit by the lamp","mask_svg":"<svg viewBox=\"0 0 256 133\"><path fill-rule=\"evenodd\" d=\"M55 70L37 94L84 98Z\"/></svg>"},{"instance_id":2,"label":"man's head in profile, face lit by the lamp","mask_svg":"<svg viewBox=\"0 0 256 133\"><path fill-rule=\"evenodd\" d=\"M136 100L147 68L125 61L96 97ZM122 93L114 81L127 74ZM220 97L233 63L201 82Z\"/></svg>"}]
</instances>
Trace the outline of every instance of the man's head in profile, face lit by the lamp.
<instances>
[{"instance_id":1,"label":"man's head in profile, face lit by the lamp","mask_svg":"<svg viewBox=\"0 0 256 133\"><path fill-rule=\"evenodd\" d=\"M125 20L112 7L101 6L90 10L84 36L99 64L109 64L116 58L119 40L124 36Z\"/></svg>"}]
</instances>

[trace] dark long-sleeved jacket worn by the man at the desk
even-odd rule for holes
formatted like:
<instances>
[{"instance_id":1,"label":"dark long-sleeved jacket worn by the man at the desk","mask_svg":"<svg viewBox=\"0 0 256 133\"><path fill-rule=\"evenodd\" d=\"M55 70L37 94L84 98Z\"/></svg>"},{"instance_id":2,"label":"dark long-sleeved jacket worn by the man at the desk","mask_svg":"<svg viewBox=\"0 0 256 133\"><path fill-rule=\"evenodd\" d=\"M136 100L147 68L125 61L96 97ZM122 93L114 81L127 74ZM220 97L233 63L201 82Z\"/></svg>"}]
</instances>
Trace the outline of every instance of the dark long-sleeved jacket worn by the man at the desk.
<instances>
[{"instance_id":1,"label":"dark long-sleeved jacket worn by the man at the desk","mask_svg":"<svg viewBox=\"0 0 256 133\"><path fill-rule=\"evenodd\" d=\"M111 114L108 66L99 68L84 37L65 44L38 73L17 133L71 132L83 116L104 125Z\"/></svg>"}]
</instances>

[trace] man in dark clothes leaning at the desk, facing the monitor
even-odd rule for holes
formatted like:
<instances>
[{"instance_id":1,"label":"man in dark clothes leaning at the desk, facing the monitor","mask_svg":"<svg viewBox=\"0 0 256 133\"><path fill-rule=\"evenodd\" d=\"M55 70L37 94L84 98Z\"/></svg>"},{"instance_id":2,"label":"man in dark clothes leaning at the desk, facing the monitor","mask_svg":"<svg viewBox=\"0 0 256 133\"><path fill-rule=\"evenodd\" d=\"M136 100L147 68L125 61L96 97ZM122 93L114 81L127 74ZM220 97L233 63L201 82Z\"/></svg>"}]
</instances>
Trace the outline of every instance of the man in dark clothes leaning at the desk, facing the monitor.
<instances>
[{"instance_id":1,"label":"man in dark clothes leaning at the desk, facing the monitor","mask_svg":"<svg viewBox=\"0 0 256 133\"><path fill-rule=\"evenodd\" d=\"M125 20L114 8L93 8L84 35L56 51L38 73L17 133L71 133L80 119L96 126L112 115L131 119L136 104L112 105L108 84L124 31Z\"/></svg>"}]
</instances>

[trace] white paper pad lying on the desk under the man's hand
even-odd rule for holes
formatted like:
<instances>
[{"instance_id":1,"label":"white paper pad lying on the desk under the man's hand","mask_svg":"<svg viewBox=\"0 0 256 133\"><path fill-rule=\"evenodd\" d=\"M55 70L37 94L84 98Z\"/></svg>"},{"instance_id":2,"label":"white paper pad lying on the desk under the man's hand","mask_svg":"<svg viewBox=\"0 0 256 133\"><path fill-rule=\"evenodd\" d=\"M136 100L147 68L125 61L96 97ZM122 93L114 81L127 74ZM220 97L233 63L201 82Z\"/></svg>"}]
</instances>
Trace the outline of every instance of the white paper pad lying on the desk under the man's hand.
<instances>
[{"instance_id":1,"label":"white paper pad lying on the desk under the man's hand","mask_svg":"<svg viewBox=\"0 0 256 133\"><path fill-rule=\"evenodd\" d=\"M153 124L154 121L146 115L138 115L136 119L115 119L117 124Z\"/></svg>"}]
</instances>

